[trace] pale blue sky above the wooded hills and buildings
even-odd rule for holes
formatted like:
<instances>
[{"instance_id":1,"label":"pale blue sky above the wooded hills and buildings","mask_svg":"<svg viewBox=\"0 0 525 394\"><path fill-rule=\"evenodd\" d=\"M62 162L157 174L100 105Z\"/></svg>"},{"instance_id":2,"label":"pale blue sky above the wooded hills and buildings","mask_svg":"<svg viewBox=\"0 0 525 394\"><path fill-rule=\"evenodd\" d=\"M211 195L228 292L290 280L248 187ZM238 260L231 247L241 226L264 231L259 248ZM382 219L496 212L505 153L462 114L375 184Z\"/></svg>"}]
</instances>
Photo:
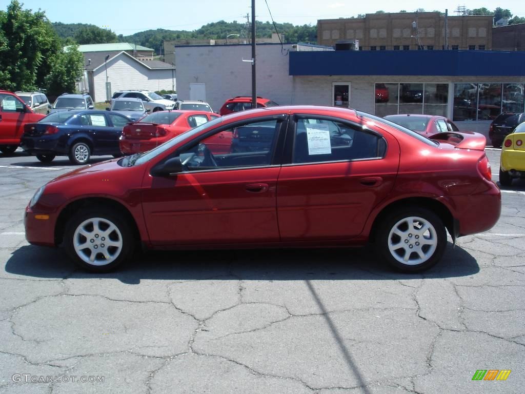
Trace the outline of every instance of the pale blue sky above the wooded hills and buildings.
<instances>
[{"instance_id":1,"label":"pale blue sky above the wooded hills and buildings","mask_svg":"<svg viewBox=\"0 0 525 394\"><path fill-rule=\"evenodd\" d=\"M5 10L9 0L0 1L0 9ZM51 22L90 23L113 30L124 36L148 29L165 28L170 30L195 30L211 22L244 21L247 13L251 15L251 0L19 0L24 8L36 11L41 8ZM458 6L468 9L486 7L508 8L513 15L525 17L524 0L508 0L503 3L450 0L368 0L365 3L347 0L266 0L275 22L289 22L294 25L317 24L317 19L351 17L358 14L374 13L378 10L408 12L417 8L425 11L439 10L456 15ZM255 1L257 20L270 20L265 0ZM67 4L67 5L66 5ZM493 5L491 5L493 4Z\"/></svg>"}]
</instances>

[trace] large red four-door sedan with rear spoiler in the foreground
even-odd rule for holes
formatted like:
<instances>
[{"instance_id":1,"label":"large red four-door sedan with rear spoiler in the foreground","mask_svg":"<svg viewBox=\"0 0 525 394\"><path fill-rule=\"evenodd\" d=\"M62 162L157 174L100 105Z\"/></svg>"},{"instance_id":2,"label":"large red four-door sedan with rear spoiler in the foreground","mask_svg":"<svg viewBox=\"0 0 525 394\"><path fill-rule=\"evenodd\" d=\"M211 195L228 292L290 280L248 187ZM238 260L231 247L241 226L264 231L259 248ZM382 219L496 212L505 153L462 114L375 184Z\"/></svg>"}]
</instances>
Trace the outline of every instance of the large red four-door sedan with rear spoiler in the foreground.
<instances>
[{"instance_id":1,"label":"large red four-door sedan with rear spoiler in the foreground","mask_svg":"<svg viewBox=\"0 0 525 394\"><path fill-rule=\"evenodd\" d=\"M212 153L209 141L239 128L250 143ZM229 249L366 242L398 269L419 271L440 260L447 230L453 239L487 231L500 215L485 137L449 134L430 140L343 108L243 111L149 152L48 182L26 207L26 238L63 244L78 265L99 272L128 260L140 244Z\"/></svg>"}]
</instances>

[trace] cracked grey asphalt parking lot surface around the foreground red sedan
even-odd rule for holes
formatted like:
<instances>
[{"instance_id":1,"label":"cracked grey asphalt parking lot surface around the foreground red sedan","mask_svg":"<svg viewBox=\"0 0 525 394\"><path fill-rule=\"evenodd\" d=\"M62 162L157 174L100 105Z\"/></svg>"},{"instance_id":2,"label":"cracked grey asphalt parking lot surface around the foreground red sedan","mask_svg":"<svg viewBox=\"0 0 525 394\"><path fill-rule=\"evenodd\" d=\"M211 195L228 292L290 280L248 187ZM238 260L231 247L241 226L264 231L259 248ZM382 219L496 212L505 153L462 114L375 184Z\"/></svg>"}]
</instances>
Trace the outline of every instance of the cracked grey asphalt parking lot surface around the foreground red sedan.
<instances>
[{"instance_id":1,"label":"cracked grey asphalt parking lot surface around the foreground red sedan","mask_svg":"<svg viewBox=\"0 0 525 394\"><path fill-rule=\"evenodd\" d=\"M523 392L525 180L422 274L370 247L148 252L89 274L24 237L31 196L72 168L0 155L0 394Z\"/></svg>"}]
</instances>

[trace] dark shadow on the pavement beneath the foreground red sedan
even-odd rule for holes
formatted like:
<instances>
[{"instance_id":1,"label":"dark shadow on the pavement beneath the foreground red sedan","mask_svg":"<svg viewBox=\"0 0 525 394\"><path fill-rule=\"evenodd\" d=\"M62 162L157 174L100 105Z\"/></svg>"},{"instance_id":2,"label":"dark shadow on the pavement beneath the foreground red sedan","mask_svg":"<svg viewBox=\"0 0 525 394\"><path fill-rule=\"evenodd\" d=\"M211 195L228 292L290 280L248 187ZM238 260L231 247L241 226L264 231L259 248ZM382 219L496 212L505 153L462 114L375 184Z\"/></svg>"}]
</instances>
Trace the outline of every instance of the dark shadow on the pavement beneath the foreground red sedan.
<instances>
[{"instance_id":1,"label":"dark shadow on the pavement beneath the foreground red sedan","mask_svg":"<svg viewBox=\"0 0 525 394\"><path fill-rule=\"evenodd\" d=\"M95 274L77 269L61 248L28 245L12 253L5 271L37 278L116 278L122 283L139 284L141 279L232 277L246 281L448 278L474 275L479 265L467 251L448 243L442 261L414 274L393 271L377 258L372 247L145 252L115 272Z\"/></svg>"}]
</instances>

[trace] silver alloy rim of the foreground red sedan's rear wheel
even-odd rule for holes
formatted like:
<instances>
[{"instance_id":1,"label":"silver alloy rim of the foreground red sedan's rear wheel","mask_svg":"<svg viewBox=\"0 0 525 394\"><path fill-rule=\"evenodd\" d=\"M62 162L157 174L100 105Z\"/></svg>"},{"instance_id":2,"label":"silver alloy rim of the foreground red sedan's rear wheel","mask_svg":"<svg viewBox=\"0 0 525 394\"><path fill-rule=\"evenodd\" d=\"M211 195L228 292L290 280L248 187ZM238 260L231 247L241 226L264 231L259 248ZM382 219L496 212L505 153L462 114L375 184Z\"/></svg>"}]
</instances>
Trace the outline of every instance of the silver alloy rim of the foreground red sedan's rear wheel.
<instances>
[{"instance_id":1,"label":"silver alloy rim of the foreground red sedan's rear wheel","mask_svg":"<svg viewBox=\"0 0 525 394\"><path fill-rule=\"evenodd\" d=\"M401 264L425 263L432 257L436 248L436 229L422 217L405 217L394 224L388 233L388 250Z\"/></svg>"}]
</instances>

